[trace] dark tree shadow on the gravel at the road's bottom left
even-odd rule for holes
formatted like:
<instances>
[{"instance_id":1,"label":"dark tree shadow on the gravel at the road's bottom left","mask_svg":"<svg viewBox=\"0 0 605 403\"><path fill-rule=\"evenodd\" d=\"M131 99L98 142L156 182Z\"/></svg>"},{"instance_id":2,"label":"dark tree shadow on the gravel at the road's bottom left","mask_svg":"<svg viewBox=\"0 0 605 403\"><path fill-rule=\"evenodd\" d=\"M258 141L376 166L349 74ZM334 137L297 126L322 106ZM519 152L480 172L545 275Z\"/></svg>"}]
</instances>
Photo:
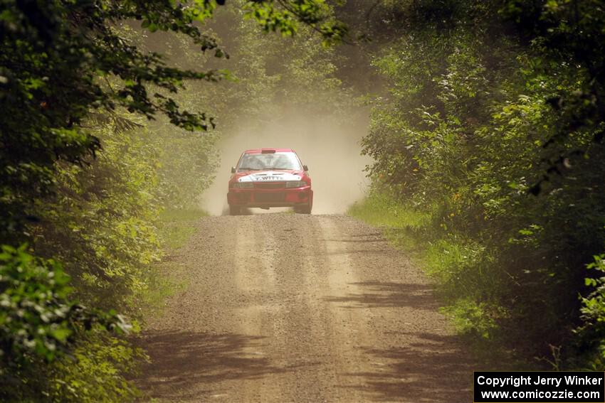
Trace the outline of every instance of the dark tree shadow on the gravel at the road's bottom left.
<instances>
[{"instance_id":1,"label":"dark tree shadow on the gravel at the road's bottom left","mask_svg":"<svg viewBox=\"0 0 605 403\"><path fill-rule=\"evenodd\" d=\"M260 351L263 337L233 333L152 331L142 336L141 347L150 355L137 385L150 397L203 399L219 393L212 390L224 380L256 379L293 371L275 367Z\"/></svg>"}]
</instances>

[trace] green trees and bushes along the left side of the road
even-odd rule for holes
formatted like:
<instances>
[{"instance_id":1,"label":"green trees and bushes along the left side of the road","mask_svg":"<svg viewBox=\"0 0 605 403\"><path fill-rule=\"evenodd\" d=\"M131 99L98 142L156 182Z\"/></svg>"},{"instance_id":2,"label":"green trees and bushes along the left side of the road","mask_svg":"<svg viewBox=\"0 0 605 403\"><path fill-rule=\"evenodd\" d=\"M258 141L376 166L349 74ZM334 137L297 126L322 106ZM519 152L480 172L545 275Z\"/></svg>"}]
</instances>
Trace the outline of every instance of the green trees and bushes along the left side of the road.
<instances>
[{"instance_id":1,"label":"green trees and bushes along the left side of the road","mask_svg":"<svg viewBox=\"0 0 605 403\"><path fill-rule=\"evenodd\" d=\"M125 375L144 354L114 309L138 327L159 214L211 181L216 134L191 131L228 110L185 91L228 77L200 68L228 58L202 31L223 3L0 1L0 399L137 397ZM257 29L346 33L322 0L240 6ZM186 57L171 64L166 43Z\"/></svg>"}]
</instances>

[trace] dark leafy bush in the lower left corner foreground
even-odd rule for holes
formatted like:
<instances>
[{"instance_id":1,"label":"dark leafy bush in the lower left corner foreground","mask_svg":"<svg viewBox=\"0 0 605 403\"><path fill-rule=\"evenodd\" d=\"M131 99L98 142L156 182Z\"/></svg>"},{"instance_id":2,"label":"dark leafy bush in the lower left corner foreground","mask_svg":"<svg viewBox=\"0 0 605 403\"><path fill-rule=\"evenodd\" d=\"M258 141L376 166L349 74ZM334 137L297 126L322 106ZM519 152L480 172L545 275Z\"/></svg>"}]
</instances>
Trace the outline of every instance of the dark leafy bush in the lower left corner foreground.
<instances>
[{"instance_id":1,"label":"dark leafy bush in the lower left corner foreground","mask_svg":"<svg viewBox=\"0 0 605 403\"><path fill-rule=\"evenodd\" d=\"M81 345L85 335L90 337L93 328L114 340L107 330L127 331L127 324L114 312L90 310L70 299L69 280L60 264L34 257L27 245L2 246L0 398L4 401L63 401L51 397L50 368L72 360L75 345ZM65 377L61 379L58 382ZM78 389L78 385L70 387Z\"/></svg>"}]
</instances>

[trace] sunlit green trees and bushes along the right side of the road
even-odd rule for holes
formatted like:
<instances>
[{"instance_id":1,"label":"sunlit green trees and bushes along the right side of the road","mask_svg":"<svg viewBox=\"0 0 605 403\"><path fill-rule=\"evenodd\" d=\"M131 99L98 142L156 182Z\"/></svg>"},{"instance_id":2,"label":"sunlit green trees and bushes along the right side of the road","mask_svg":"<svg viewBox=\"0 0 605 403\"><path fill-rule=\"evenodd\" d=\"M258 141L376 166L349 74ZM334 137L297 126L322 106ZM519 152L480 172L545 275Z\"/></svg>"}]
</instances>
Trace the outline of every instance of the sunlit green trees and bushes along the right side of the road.
<instances>
[{"instance_id":1,"label":"sunlit green trees and bushes along the right side of the road","mask_svg":"<svg viewBox=\"0 0 605 403\"><path fill-rule=\"evenodd\" d=\"M602 369L604 4L385 1L374 13L397 35L372 59L389 90L364 153L375 194L430 217L411 227L448 311L517 357Z\"/></svg>"}]
</instances>

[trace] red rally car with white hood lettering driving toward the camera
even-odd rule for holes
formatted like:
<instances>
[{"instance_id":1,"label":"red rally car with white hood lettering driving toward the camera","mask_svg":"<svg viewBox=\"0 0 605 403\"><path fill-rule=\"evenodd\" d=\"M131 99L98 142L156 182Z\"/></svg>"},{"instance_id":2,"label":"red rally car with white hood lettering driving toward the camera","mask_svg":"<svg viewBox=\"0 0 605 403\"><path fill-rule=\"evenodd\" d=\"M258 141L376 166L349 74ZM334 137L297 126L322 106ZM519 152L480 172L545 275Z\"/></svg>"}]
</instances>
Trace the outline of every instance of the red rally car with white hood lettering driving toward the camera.
<instances>
[{"instance_id":1,"label":"red rally car with white hood lettering driving toward the camera","mask_svg":"<svg viewBox=\"0 0 605 403\"><path fill-rule=\"evenodd\" d=\"M292 149L244 151L237 167L231 168L229 213L237 215L248 207L293 207L297 213L310 214L313 190L308 171Z\"/></svg>"}]
</instances>

